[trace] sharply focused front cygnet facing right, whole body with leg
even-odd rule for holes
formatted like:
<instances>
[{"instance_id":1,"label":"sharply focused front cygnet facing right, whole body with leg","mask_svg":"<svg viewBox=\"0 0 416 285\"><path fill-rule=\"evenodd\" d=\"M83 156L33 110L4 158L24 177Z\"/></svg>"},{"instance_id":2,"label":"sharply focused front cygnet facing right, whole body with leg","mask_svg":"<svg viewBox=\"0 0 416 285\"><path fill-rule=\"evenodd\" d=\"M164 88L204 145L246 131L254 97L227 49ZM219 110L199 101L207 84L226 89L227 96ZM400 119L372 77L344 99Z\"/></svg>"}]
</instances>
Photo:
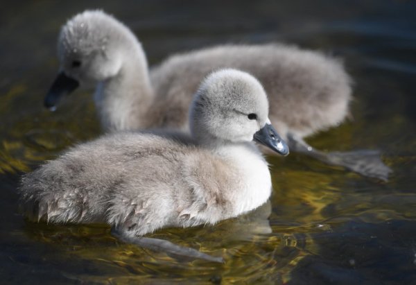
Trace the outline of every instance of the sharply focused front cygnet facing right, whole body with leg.
<instances>
[{"instance_id":1,"label":"sharply focused front cygnet facing right, whole body with leg","mask_svg":"<svg viewBox=\"0 0 416 285\"><path fill-rule=\"evenodd\" d=\"M271 178L252 141L288 154L270 125L263 87L245 72L208 76L189 117L191 137L119 132L72 148L24 175L22 206L37 220L108 223L124 241L181 253L177 245L141 236L212 225L263 205Z\"/></svg>"}]
</instances>

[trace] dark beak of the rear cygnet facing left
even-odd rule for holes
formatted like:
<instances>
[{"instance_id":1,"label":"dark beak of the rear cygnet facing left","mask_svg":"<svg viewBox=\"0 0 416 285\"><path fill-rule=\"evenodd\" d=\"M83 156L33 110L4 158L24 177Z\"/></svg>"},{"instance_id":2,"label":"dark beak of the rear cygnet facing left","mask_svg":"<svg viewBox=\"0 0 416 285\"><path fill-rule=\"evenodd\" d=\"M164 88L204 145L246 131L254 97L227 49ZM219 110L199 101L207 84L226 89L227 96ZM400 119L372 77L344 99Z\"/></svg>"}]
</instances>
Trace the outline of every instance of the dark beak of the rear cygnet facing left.
<instances>
[{"instance_id":1,"label":"dark beak of the rear cygnet facing left","mask_svg":"<svg viewBox=\"0 0 416 285\"><path fill-rule=\"evenodd\" d=\"M44 105L47 108L54 108L62 96L67 95L78 87L80 83L77 80L66 76L63 72L53 81L51 89L46 94Z\"/></svg>"}]
</instances>

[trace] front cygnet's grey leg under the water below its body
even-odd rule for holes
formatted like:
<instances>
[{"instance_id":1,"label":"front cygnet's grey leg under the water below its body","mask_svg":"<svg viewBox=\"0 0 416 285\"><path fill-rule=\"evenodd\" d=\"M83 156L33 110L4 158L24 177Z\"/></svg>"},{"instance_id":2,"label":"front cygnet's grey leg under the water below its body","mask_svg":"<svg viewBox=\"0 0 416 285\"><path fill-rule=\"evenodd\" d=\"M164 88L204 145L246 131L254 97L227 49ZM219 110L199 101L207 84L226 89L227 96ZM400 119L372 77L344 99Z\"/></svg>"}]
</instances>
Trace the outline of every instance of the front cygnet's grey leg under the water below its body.
<instances>
[{"instance_id":1,"label":"front cygnet's grey leg under the water below its body","mask_svg":"<svg viewBox=\"0 0 416 285\"><path fill-rule=\"evenodd\" d=\"M163 239L132 236L131 233L125 233L123 231L123 229L117 229L115 227L112 227L111 232L118 239L121 239L121 241L124 241L125 243L139 245L142 248L148 248L150 250L155 250L159 252L166 252L166 254L172 254L173 256L178 257L203 259L206 261L224 263L223 257L213 257L209 254L205 254L198 250L194 250L193 248L185 248L183 246L175 245L175 243L171 243L170 241L165 241Z\"/></svg>"}]
</instances>

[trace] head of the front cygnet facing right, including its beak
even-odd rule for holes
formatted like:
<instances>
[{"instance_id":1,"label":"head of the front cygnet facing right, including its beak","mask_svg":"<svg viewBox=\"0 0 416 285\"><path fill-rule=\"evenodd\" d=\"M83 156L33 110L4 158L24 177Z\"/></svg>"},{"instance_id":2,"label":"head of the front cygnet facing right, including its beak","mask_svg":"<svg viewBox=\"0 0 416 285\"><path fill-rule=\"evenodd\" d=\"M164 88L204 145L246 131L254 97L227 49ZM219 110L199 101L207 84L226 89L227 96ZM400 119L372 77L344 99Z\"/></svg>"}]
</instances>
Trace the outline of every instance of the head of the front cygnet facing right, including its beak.
<instances>
[{"instance_id":1,"label":"head of the front cygnet facing right, including its beak","mask_svg":"<svg viewBox=\"0 0 416 285\"><path fill-rule=\"evenodd\" d=\"M268 119L268 98L259 81L235 69L210 74L190 108L191 133L200 144L242 143L253 139L288 155L288 146Z\"/></svg>"}]
</instances>

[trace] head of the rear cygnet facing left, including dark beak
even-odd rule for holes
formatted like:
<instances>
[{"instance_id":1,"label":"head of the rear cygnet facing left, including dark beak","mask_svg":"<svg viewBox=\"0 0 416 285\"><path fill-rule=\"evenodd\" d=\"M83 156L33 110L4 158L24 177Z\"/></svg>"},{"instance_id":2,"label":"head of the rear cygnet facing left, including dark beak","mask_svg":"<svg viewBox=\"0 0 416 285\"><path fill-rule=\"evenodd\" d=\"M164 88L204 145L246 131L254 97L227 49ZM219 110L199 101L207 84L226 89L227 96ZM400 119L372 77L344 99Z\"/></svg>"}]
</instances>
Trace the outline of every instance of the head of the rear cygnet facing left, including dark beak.
<instances>
[{"instance_id":1,"label":"head of the rear cygnet facing left, including dark beak","mask_svg":"<svg viewBox=\"0 0 416 285\"><path fill-rule=\"evenodd\" d=\"M53 107L81 83L97 83L119 73L121 49L134 37L130 30L101 10L86 10L67 21L58 37L60 74L45 98Z\"/></svg>"}]
</instances>

